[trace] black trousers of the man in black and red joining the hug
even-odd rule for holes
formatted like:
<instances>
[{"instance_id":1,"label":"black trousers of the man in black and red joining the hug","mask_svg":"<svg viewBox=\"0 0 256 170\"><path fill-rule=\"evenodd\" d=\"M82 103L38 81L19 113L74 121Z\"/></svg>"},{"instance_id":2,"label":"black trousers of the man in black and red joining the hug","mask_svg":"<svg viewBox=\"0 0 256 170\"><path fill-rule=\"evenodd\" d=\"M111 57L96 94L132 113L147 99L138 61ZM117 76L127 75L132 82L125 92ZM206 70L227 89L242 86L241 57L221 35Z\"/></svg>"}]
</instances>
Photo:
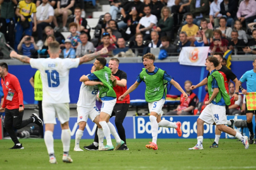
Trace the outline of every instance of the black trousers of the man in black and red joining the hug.
<instances>
[{"instance_id":1,"label":"black trousers of the man in black and red joining the hug","mask_svg":"<svg viewBox=\"0 0 256 170\"><path fill-rule=\"evenodd\" d=\"M116 103L114 105L114 109L112 112L111 117L116 116L114 123L116 124L116 128L118 129L118 135L121 140L123 140L126 144L126 135L125 135L125 128L123 127L123 121L125 120L127 111L129 109L129 103ZM98 127L95 131L94 142L99 143L99 138L97 135Z\"/></svg>"}]
</instances>

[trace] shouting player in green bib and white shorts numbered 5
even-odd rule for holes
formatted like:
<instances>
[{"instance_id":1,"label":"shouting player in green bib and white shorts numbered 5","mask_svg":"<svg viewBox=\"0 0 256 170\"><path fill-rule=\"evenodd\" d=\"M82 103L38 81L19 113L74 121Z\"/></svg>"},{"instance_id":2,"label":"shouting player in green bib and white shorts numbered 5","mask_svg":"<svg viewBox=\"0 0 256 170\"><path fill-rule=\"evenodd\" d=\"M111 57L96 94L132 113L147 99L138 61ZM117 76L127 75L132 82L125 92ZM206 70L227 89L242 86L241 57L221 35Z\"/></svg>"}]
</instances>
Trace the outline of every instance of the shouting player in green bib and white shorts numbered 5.
<instances>
[{"instance_id":1,"label":"shouting player in green bib and white shorts numbered 5","mask_svg":"<svg viewBox=\"0 0 256 170\"><path fill-rule=\"evenodd\" d=\"M144 81L146 84L145 90L145 99L149 103L150 116L149 120L152 123L152 142L149 142L149 145L146 145L148 149L157 150L157 131L158 127L168 127L175 128L177 130L178 136L181 137L181 123L173 123L168 120L161 120L162 116L162 106L166 101L166 86L168 82L173 84L181 93L183 93L184 98L188 99L188 95L181 88L178 82L174 81L171 76L169 76L166 71L155 67L154 65L155 55L154 54L145 54L143 55L143 65L145 68L142 69L142 72L137 77L137 81L123 94L119 97L119 100L123 101L126 95L134 91L140 82Z\"/></svg>"}]
</instances>

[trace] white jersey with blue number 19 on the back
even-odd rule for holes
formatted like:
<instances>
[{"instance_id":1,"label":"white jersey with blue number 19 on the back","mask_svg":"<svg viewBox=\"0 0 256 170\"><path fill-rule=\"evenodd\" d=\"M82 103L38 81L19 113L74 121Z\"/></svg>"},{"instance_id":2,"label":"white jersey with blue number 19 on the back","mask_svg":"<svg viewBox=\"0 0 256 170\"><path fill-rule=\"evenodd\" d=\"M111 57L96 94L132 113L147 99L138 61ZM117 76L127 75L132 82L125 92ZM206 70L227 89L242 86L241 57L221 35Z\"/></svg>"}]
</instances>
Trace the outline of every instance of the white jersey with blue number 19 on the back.
<instances>
[{"instance_id":1,"label":"white jersey with blue number 19 on the back","mask_svg":"<svg viewBox=\"0 0 256 170\"><path fill-rule=\"evenodd\" d=\"M31 67L39 69L41 74L42 103L70 103L70 69L78 67L79 62L80 59L30 59Z\"/></svg>"}]
</instances>

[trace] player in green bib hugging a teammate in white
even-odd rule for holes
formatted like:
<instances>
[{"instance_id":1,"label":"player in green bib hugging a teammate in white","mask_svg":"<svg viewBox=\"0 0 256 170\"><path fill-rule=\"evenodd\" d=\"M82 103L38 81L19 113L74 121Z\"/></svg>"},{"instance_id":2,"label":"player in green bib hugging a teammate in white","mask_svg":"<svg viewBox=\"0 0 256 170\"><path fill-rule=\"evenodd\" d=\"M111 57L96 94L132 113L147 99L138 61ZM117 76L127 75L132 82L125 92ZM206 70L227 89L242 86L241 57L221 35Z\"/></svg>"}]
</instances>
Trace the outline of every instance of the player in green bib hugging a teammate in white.
<instances>
[{"instance_id":1,"label":"player in green bib hugging a teammate in white","mask_svg":"<svg viewBox=\"0 0 256 170\"><path fill-rule=\"evenodd\" d=\"M99 136L99 150L114 149L110 133L116 139L116 147L114 150L118 150L121 145L125 144L125 142L120 139L118 133L116 132L116 128L114 128L114 125L109 122L109 118L113 113L114 105L116 105L116 93L113 89L113 87L116 86L116 79L111 79L111 69L109 69L109 67L105 67L106 64L107 60L104 57L97 57L94 62L96 71L89 76L83 75L80 78L80 81L101 81L104 84L104 86L98 85L99 98L102 100L99 124L101 125L103 133L106 137L107 145L103 145L104 136Z\"/></svg>"}]
</instances>

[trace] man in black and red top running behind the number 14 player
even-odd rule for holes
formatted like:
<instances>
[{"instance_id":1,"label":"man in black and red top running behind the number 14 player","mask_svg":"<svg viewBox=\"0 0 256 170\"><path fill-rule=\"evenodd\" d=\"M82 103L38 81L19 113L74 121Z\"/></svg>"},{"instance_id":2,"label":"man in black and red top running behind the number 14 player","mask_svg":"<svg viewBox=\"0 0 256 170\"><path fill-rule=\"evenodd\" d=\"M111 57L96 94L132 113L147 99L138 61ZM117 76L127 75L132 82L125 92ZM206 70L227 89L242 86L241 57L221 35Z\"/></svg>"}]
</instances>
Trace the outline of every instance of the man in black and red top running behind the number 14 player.
<instances>
[{"instance_id":1,"label":"man in black and red top running behind the number 14 player","mask_svg":"<svg viewBox=\"0 0 256 170\"><path fill-rule=\"evenodd\" d=\"M226 91L229 92L229 80L231 79L233 82L235 82L236 84L236 91L235 94L233 94L234 97L234 101L238 100L238 92L239 92L239 81L236 78L236 75L229 70L227 67L221 65L222 63L222 59L223 59L223 55L221 53L214 53L213 57L216 57L217 60L219 60L219 65L216 67L216 70L219 71L219 73L221 73L221 75L224 78L224 85L226 88ZM207 79L210 76L210 72L208 73L207 77L205 77L205 79L201 82L199 82L196 86L191 86L191 89L196 89L200 86L204 86L205 84L207 84ZM226 105L226 115L229 115L229 109L228 109L228 105ZM228 126L231 128L234 128L234 120L228 120ZM216 127L215 129L215 139L214 142L212 143L212 145L210 145L210 147L219 147L219 139L221 137L221 131Z\"/></svg>"}]
</instances>

